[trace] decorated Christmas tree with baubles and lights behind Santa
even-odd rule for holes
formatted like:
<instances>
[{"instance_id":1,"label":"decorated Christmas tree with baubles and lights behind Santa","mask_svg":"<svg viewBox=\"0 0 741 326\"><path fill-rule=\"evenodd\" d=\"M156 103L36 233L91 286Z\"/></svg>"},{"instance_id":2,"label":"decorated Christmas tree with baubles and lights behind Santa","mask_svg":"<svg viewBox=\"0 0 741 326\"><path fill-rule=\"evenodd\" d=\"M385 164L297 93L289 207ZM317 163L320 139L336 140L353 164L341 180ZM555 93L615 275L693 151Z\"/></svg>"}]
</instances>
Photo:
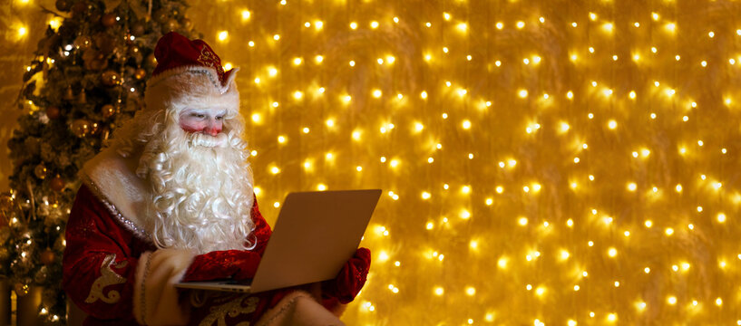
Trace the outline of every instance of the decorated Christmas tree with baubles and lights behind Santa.
<instances>
[{"instance_id":1,"label":"decorated Christmas tree with baubles and lights behind Santa","mask_svg":"<svg viewBox=\"0 0 741 326\"><path fill-rule=\"evenodd\" d=\"M8 141L11 190L0 197L0 273L18 296L44 289L40 319L64 324L64 227L77 172L141 108L162 34L189 37L181 0L57 0L24 73L24 114ZM6 226L7 225L7 226Z\"/></svg>"}]
</instances>

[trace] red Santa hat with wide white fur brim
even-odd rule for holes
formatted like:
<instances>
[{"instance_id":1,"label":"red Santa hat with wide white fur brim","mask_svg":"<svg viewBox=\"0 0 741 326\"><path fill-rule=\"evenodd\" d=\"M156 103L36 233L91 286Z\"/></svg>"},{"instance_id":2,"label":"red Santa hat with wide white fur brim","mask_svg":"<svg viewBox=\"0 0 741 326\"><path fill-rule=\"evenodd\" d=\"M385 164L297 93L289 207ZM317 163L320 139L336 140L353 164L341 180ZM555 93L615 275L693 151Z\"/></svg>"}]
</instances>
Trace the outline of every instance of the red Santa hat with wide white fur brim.
<instances>
[{"instance_id":1,"label":"red Santa hat with wide white fur brim","mask_svg":"<svg viewBox=\"0 0 741 326\"><path fill-rule=\"evenodd\" d=\"M144 92L147 110L226 109L228 119L239 113L239 68L224 72L209 44L171 32L157 42L154 57L157 67Z\"/></svg>"}]
</instances>

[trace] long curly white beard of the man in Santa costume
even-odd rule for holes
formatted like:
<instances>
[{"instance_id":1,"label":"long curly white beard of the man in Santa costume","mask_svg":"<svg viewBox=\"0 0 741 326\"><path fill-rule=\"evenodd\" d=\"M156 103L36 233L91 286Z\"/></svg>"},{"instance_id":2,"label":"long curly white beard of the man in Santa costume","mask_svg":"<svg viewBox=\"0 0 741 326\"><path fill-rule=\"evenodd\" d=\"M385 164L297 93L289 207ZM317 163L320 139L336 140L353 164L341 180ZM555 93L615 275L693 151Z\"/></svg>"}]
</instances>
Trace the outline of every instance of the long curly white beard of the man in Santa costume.
<instances>
[{"instance_id":1,"label":"long curly white beard of the man in Santa costume","mask_svg":"<svg viewBox=\"0 0 741 326\"><path fill-rule=\"evenodd\" d=\"M199 254L254 247L252 176L245 143L175 125L146 145L137 175L151 187L145 228L161 248Z\"/></svg>"}]
</instances>

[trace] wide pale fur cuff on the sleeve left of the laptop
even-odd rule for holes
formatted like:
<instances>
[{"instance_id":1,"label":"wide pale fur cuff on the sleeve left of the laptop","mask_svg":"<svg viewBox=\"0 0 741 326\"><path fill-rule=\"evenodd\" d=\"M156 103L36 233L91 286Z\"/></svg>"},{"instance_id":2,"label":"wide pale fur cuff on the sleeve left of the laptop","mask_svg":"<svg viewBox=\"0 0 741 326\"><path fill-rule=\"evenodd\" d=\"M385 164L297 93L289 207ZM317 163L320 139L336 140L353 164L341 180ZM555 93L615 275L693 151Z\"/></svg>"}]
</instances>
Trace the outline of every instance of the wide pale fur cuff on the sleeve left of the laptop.
<instances>
[{"instance_id":1,"label":"wide pale fur cuff on the sleeve left of the laptop","mask_svg":"<svg viewBox=\"0 0 741 326\"><path fill-rule=\"evenodd\" d=\"M133 312L142 325L185 325L189 311L179 304L178 283L195 254L161 249L141 254L136 266Z\"/></svg>"}]
</instances>

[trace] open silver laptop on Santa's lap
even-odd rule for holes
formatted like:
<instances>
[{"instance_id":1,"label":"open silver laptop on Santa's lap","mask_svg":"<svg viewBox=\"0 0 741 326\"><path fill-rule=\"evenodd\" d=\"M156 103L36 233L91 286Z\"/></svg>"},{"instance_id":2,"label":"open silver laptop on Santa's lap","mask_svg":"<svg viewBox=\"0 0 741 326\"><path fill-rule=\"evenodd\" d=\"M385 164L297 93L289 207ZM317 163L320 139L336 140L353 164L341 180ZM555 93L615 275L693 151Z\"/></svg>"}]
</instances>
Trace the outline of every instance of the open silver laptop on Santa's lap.
<instances>
[{"instance_id":1,"label":"open silver laptop on Santa's lap","mask_svg":"<svg viewBox=\"0 0 741 326\"><path fill-rule=\"evenodd\" d=\"M253 279L175 287L257 293L333 279L355 254L379 197L381 189L290 193Z\"/></svg>"}]
</instances>

